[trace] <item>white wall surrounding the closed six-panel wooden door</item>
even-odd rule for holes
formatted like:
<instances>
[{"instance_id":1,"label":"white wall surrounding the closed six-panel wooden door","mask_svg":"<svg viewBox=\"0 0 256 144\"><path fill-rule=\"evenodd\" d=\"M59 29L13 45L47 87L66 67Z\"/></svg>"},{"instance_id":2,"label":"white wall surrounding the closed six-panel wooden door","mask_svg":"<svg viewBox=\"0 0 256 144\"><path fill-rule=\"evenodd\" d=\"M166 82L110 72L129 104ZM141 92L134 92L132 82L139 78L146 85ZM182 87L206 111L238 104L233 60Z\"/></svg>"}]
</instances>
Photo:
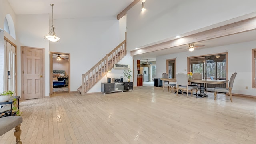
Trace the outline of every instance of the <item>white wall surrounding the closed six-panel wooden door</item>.
<instances>
[{"instance_id":1,"label":"white wall surrounding the closed six-panel wooden door","mask_svg":"<svg viewBox=\"0 0 256 144\"><path fill-rule=\"evenodd\" d=\"M49 32L48 14L31 14L16 16L16 45L17 45L17 95L21 91L21 51L20 46L44 48L44 82L45 96L49 96L49 42L44 36Z\"/></svg>"}]
</instances>

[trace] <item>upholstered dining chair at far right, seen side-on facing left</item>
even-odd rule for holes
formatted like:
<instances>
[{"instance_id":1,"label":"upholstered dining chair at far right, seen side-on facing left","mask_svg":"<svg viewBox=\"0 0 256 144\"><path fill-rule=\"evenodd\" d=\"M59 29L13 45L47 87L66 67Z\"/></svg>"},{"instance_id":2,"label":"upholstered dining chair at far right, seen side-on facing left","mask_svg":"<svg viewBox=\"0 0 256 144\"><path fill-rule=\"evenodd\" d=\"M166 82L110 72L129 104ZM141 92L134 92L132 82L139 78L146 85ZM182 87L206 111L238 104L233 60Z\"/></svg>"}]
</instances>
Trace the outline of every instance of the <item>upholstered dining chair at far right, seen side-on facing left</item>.
<instances>
[{"instance_id":1,"label":"upholstered dining chair at far right, seen side-on facing left","mask_svg":"<svg viewBox=\"0 0 256 144\"><path fill-rule=\"evenodd\" d=\"M216 98L217 98L217 92L225 92L225 93L229 94L230 101L233 102L232 88L233 88L233 83L234 83L235 78L236 78L236 72L234 74L232 74L232 76L230 77L228 88L219 88L219 87L214 88L214 100L216 100Z\"/></svg>"}]
</instances>

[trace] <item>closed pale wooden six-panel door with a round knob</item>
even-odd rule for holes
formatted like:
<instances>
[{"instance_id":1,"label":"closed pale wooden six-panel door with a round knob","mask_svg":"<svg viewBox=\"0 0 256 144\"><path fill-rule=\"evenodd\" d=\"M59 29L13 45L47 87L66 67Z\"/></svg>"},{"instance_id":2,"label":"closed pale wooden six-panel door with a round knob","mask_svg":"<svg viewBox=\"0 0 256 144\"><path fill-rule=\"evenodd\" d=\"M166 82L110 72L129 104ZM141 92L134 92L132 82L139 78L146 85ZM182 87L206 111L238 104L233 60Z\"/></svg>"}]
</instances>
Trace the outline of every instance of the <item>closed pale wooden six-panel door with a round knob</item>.
<instances>
[{"instance_id":1,"label":"closed pale wooden six-panel door with a round knob","mask_svg":"<svg viewBox=\"0 0 256 144\"><path fill-rule=\"evenodd\" d=\"M44 49L22 47L23 99L44 96Z\"/></svg>"}]
</instances>

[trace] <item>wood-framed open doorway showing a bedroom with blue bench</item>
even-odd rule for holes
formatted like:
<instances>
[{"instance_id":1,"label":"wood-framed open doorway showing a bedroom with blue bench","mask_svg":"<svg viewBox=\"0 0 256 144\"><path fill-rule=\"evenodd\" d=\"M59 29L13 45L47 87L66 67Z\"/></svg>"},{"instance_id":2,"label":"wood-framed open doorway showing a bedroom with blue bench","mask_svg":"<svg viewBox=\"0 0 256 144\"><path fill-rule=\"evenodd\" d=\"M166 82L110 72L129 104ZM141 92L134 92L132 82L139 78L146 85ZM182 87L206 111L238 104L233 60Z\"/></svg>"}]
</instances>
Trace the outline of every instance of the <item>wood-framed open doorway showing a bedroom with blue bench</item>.
<instances>
[{"instance_id":1,"label":"wood-framed open doorway showing a bedroom with blue bench","mask_svg":"<svg viewBox=\"0 0 256 144\"><path fill-rule=\"evenodd\" d=\"M50 52L50 94L70 92L70 54Z\"/></svg>"}]
</instances>

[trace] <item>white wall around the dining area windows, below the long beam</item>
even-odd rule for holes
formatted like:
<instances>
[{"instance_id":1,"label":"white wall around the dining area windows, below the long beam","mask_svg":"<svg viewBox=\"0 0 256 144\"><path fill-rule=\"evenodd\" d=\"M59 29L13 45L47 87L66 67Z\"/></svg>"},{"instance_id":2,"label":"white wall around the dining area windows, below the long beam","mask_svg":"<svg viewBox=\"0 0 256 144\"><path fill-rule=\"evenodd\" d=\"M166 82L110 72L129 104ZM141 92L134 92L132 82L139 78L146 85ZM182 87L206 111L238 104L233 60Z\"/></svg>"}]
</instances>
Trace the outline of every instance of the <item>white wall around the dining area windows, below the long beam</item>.
<instances>
[{"instance_id":1,"label":"white wall around the dining area windows, below the long beam","mask_svg":"<svg viewBox=\"0 0 256 144\"><path fill-rule=\"evenodd\" d=\"M252 88L252 49L254 48L256 41L158 56L156 57L157 77L161 78L162 73L166 72L166 59L176 58L176 73L186 73L187 57L228 52L228 80L234 72L237 72L232 93L256 97L256 89ZM248 86L248 90L245 86Z\"/></svg>"}]
</instances>

